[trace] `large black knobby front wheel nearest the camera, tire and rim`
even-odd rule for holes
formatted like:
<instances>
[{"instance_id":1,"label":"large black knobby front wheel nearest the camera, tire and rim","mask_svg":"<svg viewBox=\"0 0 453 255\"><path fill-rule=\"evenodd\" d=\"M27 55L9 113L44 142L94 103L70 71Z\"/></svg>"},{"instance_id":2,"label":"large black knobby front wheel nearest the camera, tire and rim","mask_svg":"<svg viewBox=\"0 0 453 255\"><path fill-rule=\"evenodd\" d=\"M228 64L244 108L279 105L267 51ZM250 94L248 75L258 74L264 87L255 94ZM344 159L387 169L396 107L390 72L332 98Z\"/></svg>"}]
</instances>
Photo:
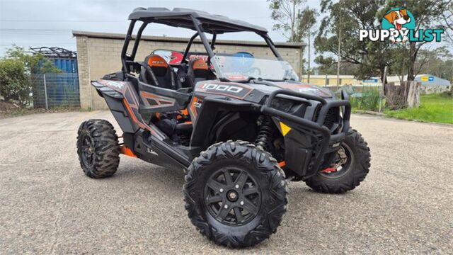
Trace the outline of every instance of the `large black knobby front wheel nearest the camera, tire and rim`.
<instances>
[{"instance_id":1,"label":"large black knobby front wheel nearest the camera, tire and rim","mask_svg":"<svg viewBox=\"0 0 453 255\"><path fill-rule=\"evenodd\" d=\"M243 141L219 142L189 166L184 200L191 222L208 239L234 248L253 246L280 225L287 181L263 149Z\"/></svg>"}]
</instances>

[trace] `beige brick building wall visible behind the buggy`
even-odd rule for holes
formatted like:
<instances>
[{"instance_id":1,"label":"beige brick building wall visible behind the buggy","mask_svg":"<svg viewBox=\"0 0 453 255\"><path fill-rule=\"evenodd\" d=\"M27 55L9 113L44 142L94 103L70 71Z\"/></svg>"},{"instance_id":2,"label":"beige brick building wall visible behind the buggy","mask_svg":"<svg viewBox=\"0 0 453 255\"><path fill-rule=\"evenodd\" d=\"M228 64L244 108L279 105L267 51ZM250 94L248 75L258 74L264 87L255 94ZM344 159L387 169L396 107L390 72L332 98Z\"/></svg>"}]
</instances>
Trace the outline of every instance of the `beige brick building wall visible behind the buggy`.
<instances>
[{"instance_id":1,"label":"beige brick building wall visible behind the buggy","mask_svg":"<svg viewBox=\"0 0 453 255\"><path fill-rule=\"evenodd\" d=\"M112 35L103 33L83 33L74 32L77 43L77 62L79 65L79 86L81 108L92 110L107 109L103 98L98 96L96 89L91 86L90 81L100 79L105 74L118 72L121 70L121 49L124 42L124 35ZM153 40L155 39L155 40ZM188 39L182 38L160 38L143 37L140 42L137 61L144 60L154 50L178 50L184 51ZM166 41L162 41L166 40ZM133 40L130 43L132 48ZM233 44L233 45L231 45ZM302 44L277 44L280 55L292 65L299 74L301 62ZM129 49L129 50L130 50ZM190 51L205 52L205 48L199 42L194 42ZM268 47L257 45L256 42L239 42L234 45L232 41L217 41L215 52L235 53L239 51L251 52L256 57L273 56Z\"/></svg>"}]
</instances>

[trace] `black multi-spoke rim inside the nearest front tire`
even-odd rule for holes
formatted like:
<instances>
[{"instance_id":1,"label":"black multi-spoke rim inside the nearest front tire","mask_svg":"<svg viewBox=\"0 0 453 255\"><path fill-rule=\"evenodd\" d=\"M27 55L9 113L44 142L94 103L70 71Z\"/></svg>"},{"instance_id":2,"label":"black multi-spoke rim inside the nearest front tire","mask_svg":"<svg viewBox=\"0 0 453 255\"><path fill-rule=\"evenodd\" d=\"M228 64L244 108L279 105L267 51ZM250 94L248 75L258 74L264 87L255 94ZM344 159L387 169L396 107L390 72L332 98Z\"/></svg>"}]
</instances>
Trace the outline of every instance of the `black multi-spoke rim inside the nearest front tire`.
<instances>
[{"instance_id":1,"label":"black multi-spoke rim inside the nearest front tire","mask_svg":"<svg viewBox=\"0 0 453 255\"><path fill-rule=\"evenodd\" d=\"M225 225L244 225L258 215L261 192L256 180L243 169L219 169L205 186L205 207Z\"/></svg>"}]
</instances>

